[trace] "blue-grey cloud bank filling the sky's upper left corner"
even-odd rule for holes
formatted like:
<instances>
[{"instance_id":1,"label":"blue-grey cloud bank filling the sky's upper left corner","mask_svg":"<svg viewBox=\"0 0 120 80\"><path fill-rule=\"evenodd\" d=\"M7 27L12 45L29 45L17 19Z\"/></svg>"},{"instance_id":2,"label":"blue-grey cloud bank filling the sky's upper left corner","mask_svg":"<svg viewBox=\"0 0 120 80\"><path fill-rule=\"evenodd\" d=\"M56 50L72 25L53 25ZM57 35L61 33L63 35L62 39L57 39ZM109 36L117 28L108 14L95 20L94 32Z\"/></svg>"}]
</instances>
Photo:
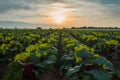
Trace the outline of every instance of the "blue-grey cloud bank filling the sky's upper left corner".
<instances>
[{"instance_id":1,"label":"blue-grey cloud bank filling the sky's upper left corner","mask_svg":"<svg viewBox=\"0 0 120 80\"><path fill-rule=\"evenodd\" d=\"M10 10L31 10L39 9L40 5L48 5L65 0L0 0L0 13L5 13Z\"/></svg>"}]
</instances>

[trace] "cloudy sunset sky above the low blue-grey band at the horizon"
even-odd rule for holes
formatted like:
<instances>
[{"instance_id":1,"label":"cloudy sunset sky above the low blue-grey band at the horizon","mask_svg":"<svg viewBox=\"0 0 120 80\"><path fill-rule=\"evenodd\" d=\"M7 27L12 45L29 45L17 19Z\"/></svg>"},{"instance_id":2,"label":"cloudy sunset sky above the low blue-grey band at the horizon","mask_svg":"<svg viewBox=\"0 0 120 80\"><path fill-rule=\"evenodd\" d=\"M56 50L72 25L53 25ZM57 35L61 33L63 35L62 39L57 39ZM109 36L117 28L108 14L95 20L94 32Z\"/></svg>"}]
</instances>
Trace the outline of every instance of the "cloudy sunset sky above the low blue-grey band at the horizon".
<instances>
[{"instance_id":1,"label":"cloudy sunset sky above the low blue-grey band at the horizon","mask_svg":"<svg viewBox=\"0 0 120 80\"><path fill-rule=\"evenodd\" d=\"M120 0L0 0L0 21L120 26Z\"/></svg>"}]
</instances>

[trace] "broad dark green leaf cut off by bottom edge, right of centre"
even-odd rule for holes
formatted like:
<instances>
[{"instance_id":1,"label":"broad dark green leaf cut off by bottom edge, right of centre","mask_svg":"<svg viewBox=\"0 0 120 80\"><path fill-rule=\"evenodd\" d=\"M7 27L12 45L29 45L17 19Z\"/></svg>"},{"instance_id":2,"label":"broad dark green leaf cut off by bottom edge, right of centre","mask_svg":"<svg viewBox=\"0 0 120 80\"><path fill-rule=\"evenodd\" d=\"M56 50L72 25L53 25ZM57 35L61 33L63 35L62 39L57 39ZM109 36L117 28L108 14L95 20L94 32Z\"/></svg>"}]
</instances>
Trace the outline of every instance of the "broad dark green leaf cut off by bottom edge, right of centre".
<instances>
[{"instance_id":1,"label":"broad dark green leaf cut off by bottom edge, right of centre","mask_svg":"<svg viewBox=\"0 0 120 80\"><path fill-rule=\"evenodd\" d=\"M87 73L91 74L96 78L97 80L111 80L112 76L105 70L90 70Z\"/></svg>"}]
</instances>

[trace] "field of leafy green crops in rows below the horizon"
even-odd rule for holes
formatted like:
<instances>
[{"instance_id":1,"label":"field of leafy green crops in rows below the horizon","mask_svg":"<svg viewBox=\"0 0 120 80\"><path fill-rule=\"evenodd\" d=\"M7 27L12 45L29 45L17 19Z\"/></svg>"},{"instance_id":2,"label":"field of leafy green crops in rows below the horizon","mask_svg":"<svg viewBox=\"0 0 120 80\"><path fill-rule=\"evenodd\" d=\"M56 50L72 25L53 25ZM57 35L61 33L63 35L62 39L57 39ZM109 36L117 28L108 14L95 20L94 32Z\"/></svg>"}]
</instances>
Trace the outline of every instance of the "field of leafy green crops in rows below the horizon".
<instances>
[{"instance_id":1,"label":"field of leafy green crops in rows below the horizon","mask_svg":"<svg viewBox=\"0 0 120 80\"><path fill-rule=\"evenodd\" d=\"M0 30L0 80L120 80L120 31Z\"/></svg>"}]
</instances>

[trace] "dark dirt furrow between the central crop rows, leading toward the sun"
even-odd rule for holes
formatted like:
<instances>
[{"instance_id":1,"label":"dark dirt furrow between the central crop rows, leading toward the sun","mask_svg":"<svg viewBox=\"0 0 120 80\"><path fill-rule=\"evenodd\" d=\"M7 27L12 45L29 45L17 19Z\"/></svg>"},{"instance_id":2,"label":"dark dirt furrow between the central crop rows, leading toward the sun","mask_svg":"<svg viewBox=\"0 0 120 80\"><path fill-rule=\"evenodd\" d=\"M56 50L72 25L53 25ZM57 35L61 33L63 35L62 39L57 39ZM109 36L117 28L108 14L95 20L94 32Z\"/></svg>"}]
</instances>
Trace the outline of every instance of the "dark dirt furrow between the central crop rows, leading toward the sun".
<instances>
[{"instance_id":1,"label":"dark dirt furrow between the central crop rows, leading toward the sun","mask_svg":"<svg viewBox=\"0 0 120 80\"><path fill-rule=\"evenodd\" d=\"M63 45L62 45L62 32L59 31L59 38L57 43L57 49L58 49L58 56L57 56L57 62L54 64L55 68L52 71L47 71L45 74L42 75L42 80L67 80L64 77L64 72L60 70L60 67L62 65L61 63L61 57L63 56Z\"/></svg>"}]
</instances>

